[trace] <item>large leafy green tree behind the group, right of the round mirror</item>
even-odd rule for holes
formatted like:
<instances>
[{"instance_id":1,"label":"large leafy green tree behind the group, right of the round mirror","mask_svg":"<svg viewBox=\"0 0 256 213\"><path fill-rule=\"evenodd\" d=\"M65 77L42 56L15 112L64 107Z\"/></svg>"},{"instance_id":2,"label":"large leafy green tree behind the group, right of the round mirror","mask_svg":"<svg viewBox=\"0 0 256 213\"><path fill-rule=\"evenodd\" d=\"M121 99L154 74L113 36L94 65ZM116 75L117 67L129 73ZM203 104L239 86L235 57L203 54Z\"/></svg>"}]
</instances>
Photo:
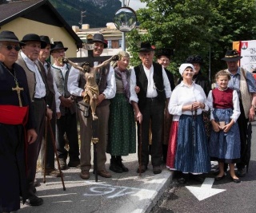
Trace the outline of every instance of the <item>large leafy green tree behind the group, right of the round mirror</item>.
<instances>
[{"instance_id":1,"label":"large leafy green tree behind the group, right of the round mirror","mask_svg":"<svg viewBox=\"0 0 256 213\"><path fill-rule=\"evenodd\" d=\"M146 8L137 11L140 29L127 34L127 45L138 65L138 41L150 41L156 48L174 49L170 70L178 76L178 66L191 54L204 58L204 72L208 75L226 67L220 59L232 41L251 40L255 34L254 0L142 0Z\"/></svg>"}]
</instances>

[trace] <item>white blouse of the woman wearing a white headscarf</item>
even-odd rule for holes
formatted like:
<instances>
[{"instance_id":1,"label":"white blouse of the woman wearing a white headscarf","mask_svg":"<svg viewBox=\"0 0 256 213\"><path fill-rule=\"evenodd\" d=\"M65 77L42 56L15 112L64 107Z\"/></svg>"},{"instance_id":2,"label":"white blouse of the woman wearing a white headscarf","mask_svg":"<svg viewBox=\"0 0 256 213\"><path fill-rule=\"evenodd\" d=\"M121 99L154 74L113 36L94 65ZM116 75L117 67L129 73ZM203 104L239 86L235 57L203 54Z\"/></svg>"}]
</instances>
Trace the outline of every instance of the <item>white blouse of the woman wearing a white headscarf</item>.
<instances>
[{"instance_id":1,"label":"white blouse of the woman wearing a white headscarf","mask_svg":"<svg viewBox=\"0 0 256 213\"><path fill-rule=\"evenodd\" d=\"M192 112L183 111L182 107L184 105L192 105L195 101L205 104L203 111L208 111L209 107L207 105L206 93L203 91L200 85L192 83L191 86L187 86L183 81L177 85L170 97L168 111L170 114L174 115L173 120L179 120L179 117L184 115L192 115ZM202 113L202 108L198 108L197 114Z\"/></svg>"}]
</instances>

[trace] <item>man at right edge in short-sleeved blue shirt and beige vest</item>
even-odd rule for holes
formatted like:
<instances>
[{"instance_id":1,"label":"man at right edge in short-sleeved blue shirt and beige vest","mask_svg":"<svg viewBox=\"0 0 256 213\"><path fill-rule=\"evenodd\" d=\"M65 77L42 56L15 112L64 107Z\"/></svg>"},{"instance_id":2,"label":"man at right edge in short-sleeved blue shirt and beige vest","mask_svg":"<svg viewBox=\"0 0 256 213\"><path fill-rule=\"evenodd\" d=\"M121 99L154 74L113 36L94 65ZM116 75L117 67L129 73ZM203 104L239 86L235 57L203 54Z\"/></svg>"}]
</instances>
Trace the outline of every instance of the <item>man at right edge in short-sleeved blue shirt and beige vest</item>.
<instances>
[{"instance_id":1,"label":"man at right edge in short-sleeved blue shirt and beige vest","mask_svg":"<svg viewBox=\"0 0 256 213\"><path fill-rule=\"evenodd\" d=\"M246 176L246 143L247 126L249 121L254 120L256 106L256 82L253 75L238 66L238 61L242 57L236 49L227 50L225 57L227 69L230 72L231 79L228 87L238 91L241 115L238 118L238 126L241 140L241 162L236 164L239 177Z\"/></svg>"}]
</instances>

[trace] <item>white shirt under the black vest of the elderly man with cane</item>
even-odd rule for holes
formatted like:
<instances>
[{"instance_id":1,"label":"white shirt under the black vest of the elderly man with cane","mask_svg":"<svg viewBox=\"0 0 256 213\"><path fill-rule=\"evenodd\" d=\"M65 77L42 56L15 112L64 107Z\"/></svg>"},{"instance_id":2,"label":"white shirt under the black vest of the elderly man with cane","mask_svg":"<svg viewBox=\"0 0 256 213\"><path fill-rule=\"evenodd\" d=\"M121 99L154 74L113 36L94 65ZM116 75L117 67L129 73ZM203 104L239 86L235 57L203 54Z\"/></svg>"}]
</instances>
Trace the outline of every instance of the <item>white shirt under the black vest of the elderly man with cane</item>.
<instances>
[{"instance_id":1,"label":"white shirt under the black vest of the elderly man with cane","mask_svg":"<svg viewBox=\"0 0 256 213\"><path fill-rule=\"evenodd\" d=\"M151 65L150 69L147 69L146 66L143 65L144 72L147 77L147 91L146 91L146 97L157 97L158 92L157 88L154 85L154 66ZM164 90L166 93L166 98L169 98L171 95L171 90L170 90L170 82L168 80L168 77L166 75L165 69L162 67L162 79L163 79L163 85L164 85ZM135 93L135 86L136 86L136 75L134 69L131 69L130 73L130 101L134 101L138 103L138 96L137 93Z\"/></svg>"}]
</instances>

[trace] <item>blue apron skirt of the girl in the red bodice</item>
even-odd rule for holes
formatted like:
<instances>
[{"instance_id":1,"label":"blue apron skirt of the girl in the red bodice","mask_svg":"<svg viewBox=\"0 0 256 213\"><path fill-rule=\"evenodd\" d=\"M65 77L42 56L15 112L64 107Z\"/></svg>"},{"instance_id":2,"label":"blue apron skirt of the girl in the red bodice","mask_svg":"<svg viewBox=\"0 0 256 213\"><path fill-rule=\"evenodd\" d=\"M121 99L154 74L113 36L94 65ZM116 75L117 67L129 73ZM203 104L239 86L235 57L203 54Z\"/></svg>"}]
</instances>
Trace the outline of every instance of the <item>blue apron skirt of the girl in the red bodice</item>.
<instances>
[{"instance_id":1,"label":"blue apron skirt of the girl in the red bodice","mask_svg":"<svg viewBox=\"0 0 256 213\"><path fill-rule=\"evenodd\" d=\"M214 120L225 121L230 123L230 116L233 110L231 108L215 108ZM218 160L224 163L238 163L240 162L240 132L238 122L230 128L229 132L214 132L210 134L210 157L211 160Z\"/></svg>"}]
</instances>

